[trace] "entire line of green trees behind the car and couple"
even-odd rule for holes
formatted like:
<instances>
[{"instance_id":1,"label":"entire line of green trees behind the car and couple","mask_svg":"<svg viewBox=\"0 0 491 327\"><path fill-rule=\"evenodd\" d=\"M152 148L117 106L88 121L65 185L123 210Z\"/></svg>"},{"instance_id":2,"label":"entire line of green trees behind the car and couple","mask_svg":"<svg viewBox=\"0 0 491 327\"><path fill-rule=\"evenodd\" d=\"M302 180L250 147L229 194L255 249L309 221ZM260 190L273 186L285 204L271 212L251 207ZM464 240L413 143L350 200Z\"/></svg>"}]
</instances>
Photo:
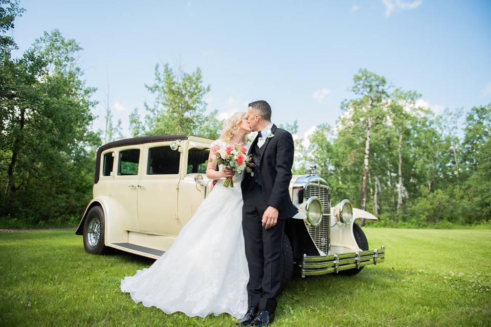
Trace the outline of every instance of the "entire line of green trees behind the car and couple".
<instances>
[{"instance_id":1,"label":"entire line of green trees behind the car and couple","mask_svg":"<svg viewBox=\"0 0 491 327\"><path fill-rule=\"evenodd\" d=\"M122 138L105 101L104 130L94 131L94 87L79 65L81 46L59 30L44 32L20 58L9 31L24 9L0 0L0 217L25 224L78 223L92 198L95 153ZM210 85L202 72L155 65L145 85L153 102L129 115L130 136L192 134L215 139L222 121L206 114ZM294 174L315 162L331 189L380 217L380 226L487 222L491 212L491 104L435 114L416 91L367 69L353 76L352 97L334 126L295 140ZM244 108L245 110L245 108ZM293 134L298 122L279 124ZM463 129L463 136L459 130ZM362 222L363 224L363 222Z\"/></svg>"}]
</instances>

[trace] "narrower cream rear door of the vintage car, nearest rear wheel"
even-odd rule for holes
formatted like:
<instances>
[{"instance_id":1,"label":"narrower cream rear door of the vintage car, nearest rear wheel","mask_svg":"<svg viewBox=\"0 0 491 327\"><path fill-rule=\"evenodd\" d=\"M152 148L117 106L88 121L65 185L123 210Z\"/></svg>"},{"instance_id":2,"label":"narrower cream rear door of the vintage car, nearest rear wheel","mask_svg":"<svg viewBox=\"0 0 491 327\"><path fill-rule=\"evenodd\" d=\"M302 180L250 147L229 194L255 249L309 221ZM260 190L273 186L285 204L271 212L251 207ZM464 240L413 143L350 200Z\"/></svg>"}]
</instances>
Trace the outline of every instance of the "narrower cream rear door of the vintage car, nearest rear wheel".
<instances>
[{"instance_id":1,"label":"narrower cream rear door of the vintage car, nearest rear wheel","mask_svg":"<svg viewBox=\"0 0 491 327\"><path fill-rule=\"evenodd\" d=\"M141 173L142 151L139 146L128 146L116 151L116 174L111 185L111 200L126 229L140 230L137 211L137 192Z\"/></svg>"}]
</instances>

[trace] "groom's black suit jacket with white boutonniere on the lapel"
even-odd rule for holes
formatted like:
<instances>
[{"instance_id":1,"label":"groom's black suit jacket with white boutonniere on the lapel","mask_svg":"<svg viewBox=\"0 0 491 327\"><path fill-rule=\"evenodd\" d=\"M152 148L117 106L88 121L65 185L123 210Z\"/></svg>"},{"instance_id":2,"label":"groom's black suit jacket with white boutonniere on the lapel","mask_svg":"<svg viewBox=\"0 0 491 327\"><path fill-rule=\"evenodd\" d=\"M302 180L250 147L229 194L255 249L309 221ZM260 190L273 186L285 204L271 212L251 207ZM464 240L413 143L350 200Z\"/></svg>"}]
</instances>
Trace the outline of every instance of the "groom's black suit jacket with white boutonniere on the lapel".
<instances>
[{"instance_id":1,"label":"groom's black suit jacket with white boutonniere on the lapel","mask_svg":"<svg viewBox=\"0 0 491 327\"><path fill-rule=\"evenodd\" d=\"M266 139L261 147L261 181L262 193L267 205L278 209L278 219L286 219L295 216L298 208L293 205L288 187L292 180L292 166L294 158L294 143L292 134L284 129L271 127L273 137ZM258 138L252 142L248 155L254 152ZM254 177L245 174L241 183L242 196L254 187Z\"/></svg>"}]
</instances>

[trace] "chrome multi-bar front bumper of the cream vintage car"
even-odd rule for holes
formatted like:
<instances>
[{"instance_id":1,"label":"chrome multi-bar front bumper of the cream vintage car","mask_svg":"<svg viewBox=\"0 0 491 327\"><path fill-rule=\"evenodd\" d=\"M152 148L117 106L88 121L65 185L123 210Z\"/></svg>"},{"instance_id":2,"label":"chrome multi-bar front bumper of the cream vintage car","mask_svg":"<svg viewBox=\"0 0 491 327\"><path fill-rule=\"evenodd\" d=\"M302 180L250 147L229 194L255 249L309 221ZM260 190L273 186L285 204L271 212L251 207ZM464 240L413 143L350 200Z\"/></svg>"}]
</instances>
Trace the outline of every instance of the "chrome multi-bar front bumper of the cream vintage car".
<instances>
[{"instance_id":1,"label":"chrome multi-bar front bumper of the cream vintage car","mask_svg":"<svg viewBox=\"0 0 491 327\"><path fill-rule=\"evenodd\" d=\"M332 255L303 255L302 277L323 275L347 269L360 269L367 265L376 265L384 262L385 247L379 249L357 251Z\"/></svg>"}]
</instances>

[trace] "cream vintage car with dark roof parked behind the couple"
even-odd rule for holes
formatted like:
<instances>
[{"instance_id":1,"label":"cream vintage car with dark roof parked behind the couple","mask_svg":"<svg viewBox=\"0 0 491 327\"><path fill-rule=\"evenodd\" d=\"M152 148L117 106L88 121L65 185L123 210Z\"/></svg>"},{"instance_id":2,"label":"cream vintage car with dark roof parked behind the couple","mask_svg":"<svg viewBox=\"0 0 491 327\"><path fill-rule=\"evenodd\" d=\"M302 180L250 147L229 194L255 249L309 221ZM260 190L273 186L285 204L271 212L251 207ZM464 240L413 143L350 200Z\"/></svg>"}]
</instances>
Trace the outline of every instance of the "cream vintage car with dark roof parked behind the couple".
<instances>
[{"instance_id":1,"label":"cream vintage car with dark roof parked behind the couple","mask_svg":"<svg viewBox=\"0 0 491 327\"><path fill-rule=\"evenodd\" d=\"M158 259L210 192L206 161L211 139L155 135L122 139L97 151L93 200L76 230L85 250L108 247ZM331 207L326 181L311 167L289 185L300 209L285 225L283 281L294 269L304 276L354 275L383 262L384 247L369 249L358 218L377 218L348 200Z\"/></svg>"}]
</instances>

